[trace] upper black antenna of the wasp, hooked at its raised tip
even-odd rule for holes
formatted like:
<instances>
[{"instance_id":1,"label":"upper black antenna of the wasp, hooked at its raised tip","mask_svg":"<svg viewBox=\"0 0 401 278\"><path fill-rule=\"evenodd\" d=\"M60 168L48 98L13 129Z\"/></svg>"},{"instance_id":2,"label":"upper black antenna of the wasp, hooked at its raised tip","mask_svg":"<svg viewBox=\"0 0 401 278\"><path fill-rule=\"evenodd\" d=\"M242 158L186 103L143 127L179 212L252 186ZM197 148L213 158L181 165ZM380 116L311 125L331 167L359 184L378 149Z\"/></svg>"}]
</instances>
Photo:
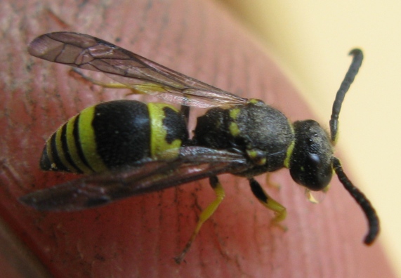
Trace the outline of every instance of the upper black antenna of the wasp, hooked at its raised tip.
<instances>
[{"instance_id":1,"label":"upper black antenna of the wasp, hooked at its raised tip","mask_svg":"<svg viewBox=\"0 0 401 278\"><path fill-rule=\"evenodd\" d=\"M341 105L343 104L344 97L348 89L350 88L351 84L353 83L355 76L362 65L363 60L363 53L360 49L355 48L350 51L350 55L353 55L353 62L351 62L350 68L344 77L343 82L341 83L340 88L336 94L336 100L333 103L333 111L331 112L331 119L330 119L330 134L331 134L331 141L336 143L337 139L337 131L338 131L338 114L340 114Z\"/></svg>"}]
</instances>

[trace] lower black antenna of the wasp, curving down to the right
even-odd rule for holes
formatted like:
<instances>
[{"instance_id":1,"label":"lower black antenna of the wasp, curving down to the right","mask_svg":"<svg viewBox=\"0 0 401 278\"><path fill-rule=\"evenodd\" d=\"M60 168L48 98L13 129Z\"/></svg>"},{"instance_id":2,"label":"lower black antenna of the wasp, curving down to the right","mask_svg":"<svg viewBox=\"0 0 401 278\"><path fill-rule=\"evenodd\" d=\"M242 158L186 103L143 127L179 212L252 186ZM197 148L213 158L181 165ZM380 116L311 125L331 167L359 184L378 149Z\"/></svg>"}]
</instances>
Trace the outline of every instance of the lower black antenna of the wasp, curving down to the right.
<instances>
[{"instance_id":1,"label":"lower black antenna of the wasp, curving down to the right","mask_svg":"<svg viewBox=\"0 0 401 278\"><path fill-rule=\"evenodd\" d=\"M360 190L350 182L346 173L344 173L343 168L341 166L340 160L336 157L333 158L333 168L336 171L338 176L338 180L346 187L346 190L351 194L351 196L355 199L355 201L360 205L362 211L364 211L364 215L367 218L368 222L368 232L364 237L364 244L370 245L373 243L374 239L376 239L379 234L379 218L377 217L376 211L373 208L370 201Z\"/></svg>"}]
</instances>

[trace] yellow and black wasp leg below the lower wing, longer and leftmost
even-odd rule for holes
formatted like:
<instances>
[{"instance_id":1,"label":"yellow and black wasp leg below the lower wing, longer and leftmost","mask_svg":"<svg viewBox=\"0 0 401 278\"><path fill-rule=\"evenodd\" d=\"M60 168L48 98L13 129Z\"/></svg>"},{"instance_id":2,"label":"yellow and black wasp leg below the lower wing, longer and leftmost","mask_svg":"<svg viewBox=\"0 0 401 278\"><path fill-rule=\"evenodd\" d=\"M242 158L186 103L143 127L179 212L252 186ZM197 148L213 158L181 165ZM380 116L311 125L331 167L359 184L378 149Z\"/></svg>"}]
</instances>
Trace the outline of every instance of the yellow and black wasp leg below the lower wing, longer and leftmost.
<instances>
[{"instance_id":1,"label":"yellow and black wasp leg below the lower wing, longer and leftmost","mask_svg":"<svg viewBox=\"0 0 401 278\"><path fill-rule=\"evenodd\" d=\"M218 208L218 206L221 204L221 202L225 197L225 192L223 190L223 187L221 186L221 183L218 181L218 178L216 176L210 177L209 183L213 188L214 192L216 193L216 199L214 199L214 201L212 201L211 204L209 204L209 206L207 206L206 209L202 211L201 215L199 216L197 226L195 227L195 231L192 233L190 240L185 245L185 248L180 253L180 256L174 258L176 260L176 263L178 264L180 264L183 261L185 253L187 253L188 250L190 249L192 242L195 240L195 237L197 237L197 234L199 233L199 230L202 227L203 223L213 215L213 213L216 211L216 209Z\"/></svg>"}]
</instances>

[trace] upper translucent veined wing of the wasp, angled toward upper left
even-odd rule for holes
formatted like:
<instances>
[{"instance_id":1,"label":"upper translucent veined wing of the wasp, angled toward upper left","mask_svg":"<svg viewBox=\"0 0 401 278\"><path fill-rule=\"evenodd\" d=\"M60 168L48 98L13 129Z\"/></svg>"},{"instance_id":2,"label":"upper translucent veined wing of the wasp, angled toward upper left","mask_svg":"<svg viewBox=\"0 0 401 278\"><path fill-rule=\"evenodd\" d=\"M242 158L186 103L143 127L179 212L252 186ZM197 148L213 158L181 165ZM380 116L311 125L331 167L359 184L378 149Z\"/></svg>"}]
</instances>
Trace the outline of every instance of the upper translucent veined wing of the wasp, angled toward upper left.
<instances>
[{"instance_id":1,"label":"upper translucent veined wing of the wasp, angled toward upper left","mask_svg":"<svg viewBox=\"0 0 401 278\"><path fill-rule=\"evenodd\" d=\"M103 72L129 88L180 105L209 108L247 102L246 98L239 98L87 34L43 34L29 44L28 51L51 62Z\"/></svg>"}]
</instances>

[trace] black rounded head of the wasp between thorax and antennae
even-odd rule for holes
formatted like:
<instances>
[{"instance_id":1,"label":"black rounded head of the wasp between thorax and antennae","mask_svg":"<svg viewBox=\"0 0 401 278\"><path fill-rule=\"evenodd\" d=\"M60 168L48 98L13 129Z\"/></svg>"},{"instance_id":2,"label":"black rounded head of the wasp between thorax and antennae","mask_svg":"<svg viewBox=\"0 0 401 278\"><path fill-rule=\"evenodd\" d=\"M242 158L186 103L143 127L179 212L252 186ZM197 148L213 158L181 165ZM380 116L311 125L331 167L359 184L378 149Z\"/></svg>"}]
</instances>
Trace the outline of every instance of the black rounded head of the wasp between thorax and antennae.
<instances>
[{"instance_id":1,"label":"black rounded head of the wasp between thorax and antennae","mask_svg":"<svg viewBox=\"0 0 401 278\"><path fill-rule=\"evenodd\" d=\"M295 146L291 154L291 177L310 190L324 189L333 173L333 149L326 131L317 121L294 123Z\"/></svg>"}]
</instances>

